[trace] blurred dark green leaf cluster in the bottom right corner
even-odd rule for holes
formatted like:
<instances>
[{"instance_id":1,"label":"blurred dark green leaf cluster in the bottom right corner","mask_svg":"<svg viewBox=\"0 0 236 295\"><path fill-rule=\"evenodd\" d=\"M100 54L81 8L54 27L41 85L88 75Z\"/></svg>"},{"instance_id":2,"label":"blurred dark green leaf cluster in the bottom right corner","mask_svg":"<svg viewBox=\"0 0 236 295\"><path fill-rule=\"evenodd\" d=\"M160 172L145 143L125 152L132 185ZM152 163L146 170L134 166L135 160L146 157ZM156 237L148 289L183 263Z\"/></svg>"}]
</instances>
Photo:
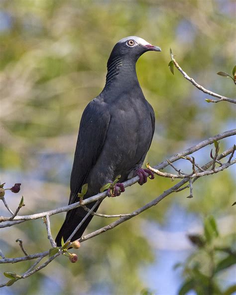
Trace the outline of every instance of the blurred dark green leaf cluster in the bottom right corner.
<instances>
[{"instance_id":1,"label":"blurred dark green leaf cluster in the bottom right corner","mask_svg":"<svg viewBox=\"0 0 236 295\"><path fill-rule=\"evenodd\" d=\"M189 240L198 248L191 254L183 267L183 282L179 295L186 295L194 290L197 295L231 295L236 292L236 284L229 286L224 291L219 286L218 275L222 271L236 264L236 249L228 247L234 242L233 236L227 240L219 238L219 231L213 216L204 222L204 235L189 235Z\"/></svg>"}]
</instances>

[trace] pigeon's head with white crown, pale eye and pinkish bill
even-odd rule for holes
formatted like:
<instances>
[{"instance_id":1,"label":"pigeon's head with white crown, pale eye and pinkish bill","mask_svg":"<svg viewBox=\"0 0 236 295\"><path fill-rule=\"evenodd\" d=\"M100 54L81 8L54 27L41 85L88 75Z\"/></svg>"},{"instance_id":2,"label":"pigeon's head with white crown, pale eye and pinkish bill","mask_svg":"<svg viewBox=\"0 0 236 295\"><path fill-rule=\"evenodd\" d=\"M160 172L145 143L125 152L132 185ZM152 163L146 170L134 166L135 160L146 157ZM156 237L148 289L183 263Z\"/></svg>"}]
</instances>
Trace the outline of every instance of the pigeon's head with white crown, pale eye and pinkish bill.
<instances>
[{"instance_id":1,"label":"pigeon's head with white crown, pale eye and pinkish bill","mask_svg":"<svg viewBox=\"0 0 236 295\"><path fill-rule=\"evenodd\" d=\"M153 46L144 39L136 36L129 36L117 42L111 53L111 57L122 56L135 60L147 51L161 51L160 47Z\"/></svg>"}]
</instances>

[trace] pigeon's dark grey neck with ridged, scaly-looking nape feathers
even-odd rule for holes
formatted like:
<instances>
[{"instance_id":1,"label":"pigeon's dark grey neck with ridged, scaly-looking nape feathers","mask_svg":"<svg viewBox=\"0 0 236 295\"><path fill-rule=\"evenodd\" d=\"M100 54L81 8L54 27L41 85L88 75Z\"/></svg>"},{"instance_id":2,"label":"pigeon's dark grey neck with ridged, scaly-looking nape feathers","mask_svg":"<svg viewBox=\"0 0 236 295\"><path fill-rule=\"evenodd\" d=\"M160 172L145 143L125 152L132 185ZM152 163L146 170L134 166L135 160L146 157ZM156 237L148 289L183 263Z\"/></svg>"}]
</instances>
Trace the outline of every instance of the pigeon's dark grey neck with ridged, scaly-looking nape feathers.
<instances>
[{"instance_id":1,"label":"pigeon's dark grey neck with ridged, scaly-looking nape feathers","mask_svg":"<svg viewBox=\"0 0 236 295\"><path fill-rule=\"evenodd\" d=\"M118 85L122 88L139 86L135 65L136 61L126 60L120 56L109 60L104 89Z\"/></svg>"}]
</instances>

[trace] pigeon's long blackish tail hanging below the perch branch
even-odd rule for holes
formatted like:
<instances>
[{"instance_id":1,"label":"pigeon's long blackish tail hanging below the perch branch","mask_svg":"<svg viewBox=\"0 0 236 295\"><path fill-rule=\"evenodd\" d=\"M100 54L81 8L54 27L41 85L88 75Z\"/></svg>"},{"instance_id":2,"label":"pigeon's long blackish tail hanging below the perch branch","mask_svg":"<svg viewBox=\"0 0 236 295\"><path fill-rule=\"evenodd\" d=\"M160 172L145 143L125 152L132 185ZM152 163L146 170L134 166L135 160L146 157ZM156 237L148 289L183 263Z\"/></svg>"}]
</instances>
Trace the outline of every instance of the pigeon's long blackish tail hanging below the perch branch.
<instances>
[{"instance_id":1,"label":"pigeon's long blackish tail hanging below the perch branch","mask_svg":"<svg viewBox=\"0 0 236 295\"><path fill-rule=\"evenodd\" d=\"M94 204L95 202L88 204L88 208L92 208ZM99 203L95 207L95 209L93 210L94 212L98 210L100 204L101 203ZM61 238L63 237L63 240L66 241L70 237L70 235L73 233L77 225L83 220L83 218L86 216L87 213L88 212L85 211L82 207L79 207L67 212L66 219L60 231L58 232L56 240L55 240L58 247L61 246ZM81 238L81 236L83 235L84 231L86 230L92 218L93 218L93 215L88 216L88 218L84 221L84 223L76 232L76 234L72 237L71 242Z\"/></svg>"}]
</instances>

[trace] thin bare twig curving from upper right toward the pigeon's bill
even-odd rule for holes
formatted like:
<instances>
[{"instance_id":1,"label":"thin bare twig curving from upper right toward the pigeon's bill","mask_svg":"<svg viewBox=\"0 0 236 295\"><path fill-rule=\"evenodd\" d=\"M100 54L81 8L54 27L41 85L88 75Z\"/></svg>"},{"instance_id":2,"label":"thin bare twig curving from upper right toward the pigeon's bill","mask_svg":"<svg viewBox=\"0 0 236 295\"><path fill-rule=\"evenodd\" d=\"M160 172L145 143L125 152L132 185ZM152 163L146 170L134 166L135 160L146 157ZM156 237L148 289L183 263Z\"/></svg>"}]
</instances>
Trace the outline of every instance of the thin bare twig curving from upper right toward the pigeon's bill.
<instances>
[{"instance_id":1,"label":"thin bare twig curving from upper right toward the pigeon's bill","mask_svg":"<svg viewBox=\"0 0 236 295\"><path fill-rule=\"evenodd\" d=\"M209 94L211 96L214 96L214 97L216 97L216 98L219 99L219 100L212 100L211 99L211 100L209 100L210 102L218 103L220 101L228 101L230 103L236 104L236 99L228 98L226 96L222 96L220 94L217 94L215 92L212 92L210 90L207 90L206 88L204 88L203 86L201 86L200 84L198 84L193 78L189 77L189 75L182 70L182 68L179 66L179 64L175 60L174 55L172 54L171 50L170 50L170 57L171 57L174 65L175 65L175 67L177 68L177 70L180 71L180 73L184 76L185 79L187 79L188 81L190 81L195 87L197 87L202 92L207 93L207 94Z\"/></svg>"}]
</instances>

